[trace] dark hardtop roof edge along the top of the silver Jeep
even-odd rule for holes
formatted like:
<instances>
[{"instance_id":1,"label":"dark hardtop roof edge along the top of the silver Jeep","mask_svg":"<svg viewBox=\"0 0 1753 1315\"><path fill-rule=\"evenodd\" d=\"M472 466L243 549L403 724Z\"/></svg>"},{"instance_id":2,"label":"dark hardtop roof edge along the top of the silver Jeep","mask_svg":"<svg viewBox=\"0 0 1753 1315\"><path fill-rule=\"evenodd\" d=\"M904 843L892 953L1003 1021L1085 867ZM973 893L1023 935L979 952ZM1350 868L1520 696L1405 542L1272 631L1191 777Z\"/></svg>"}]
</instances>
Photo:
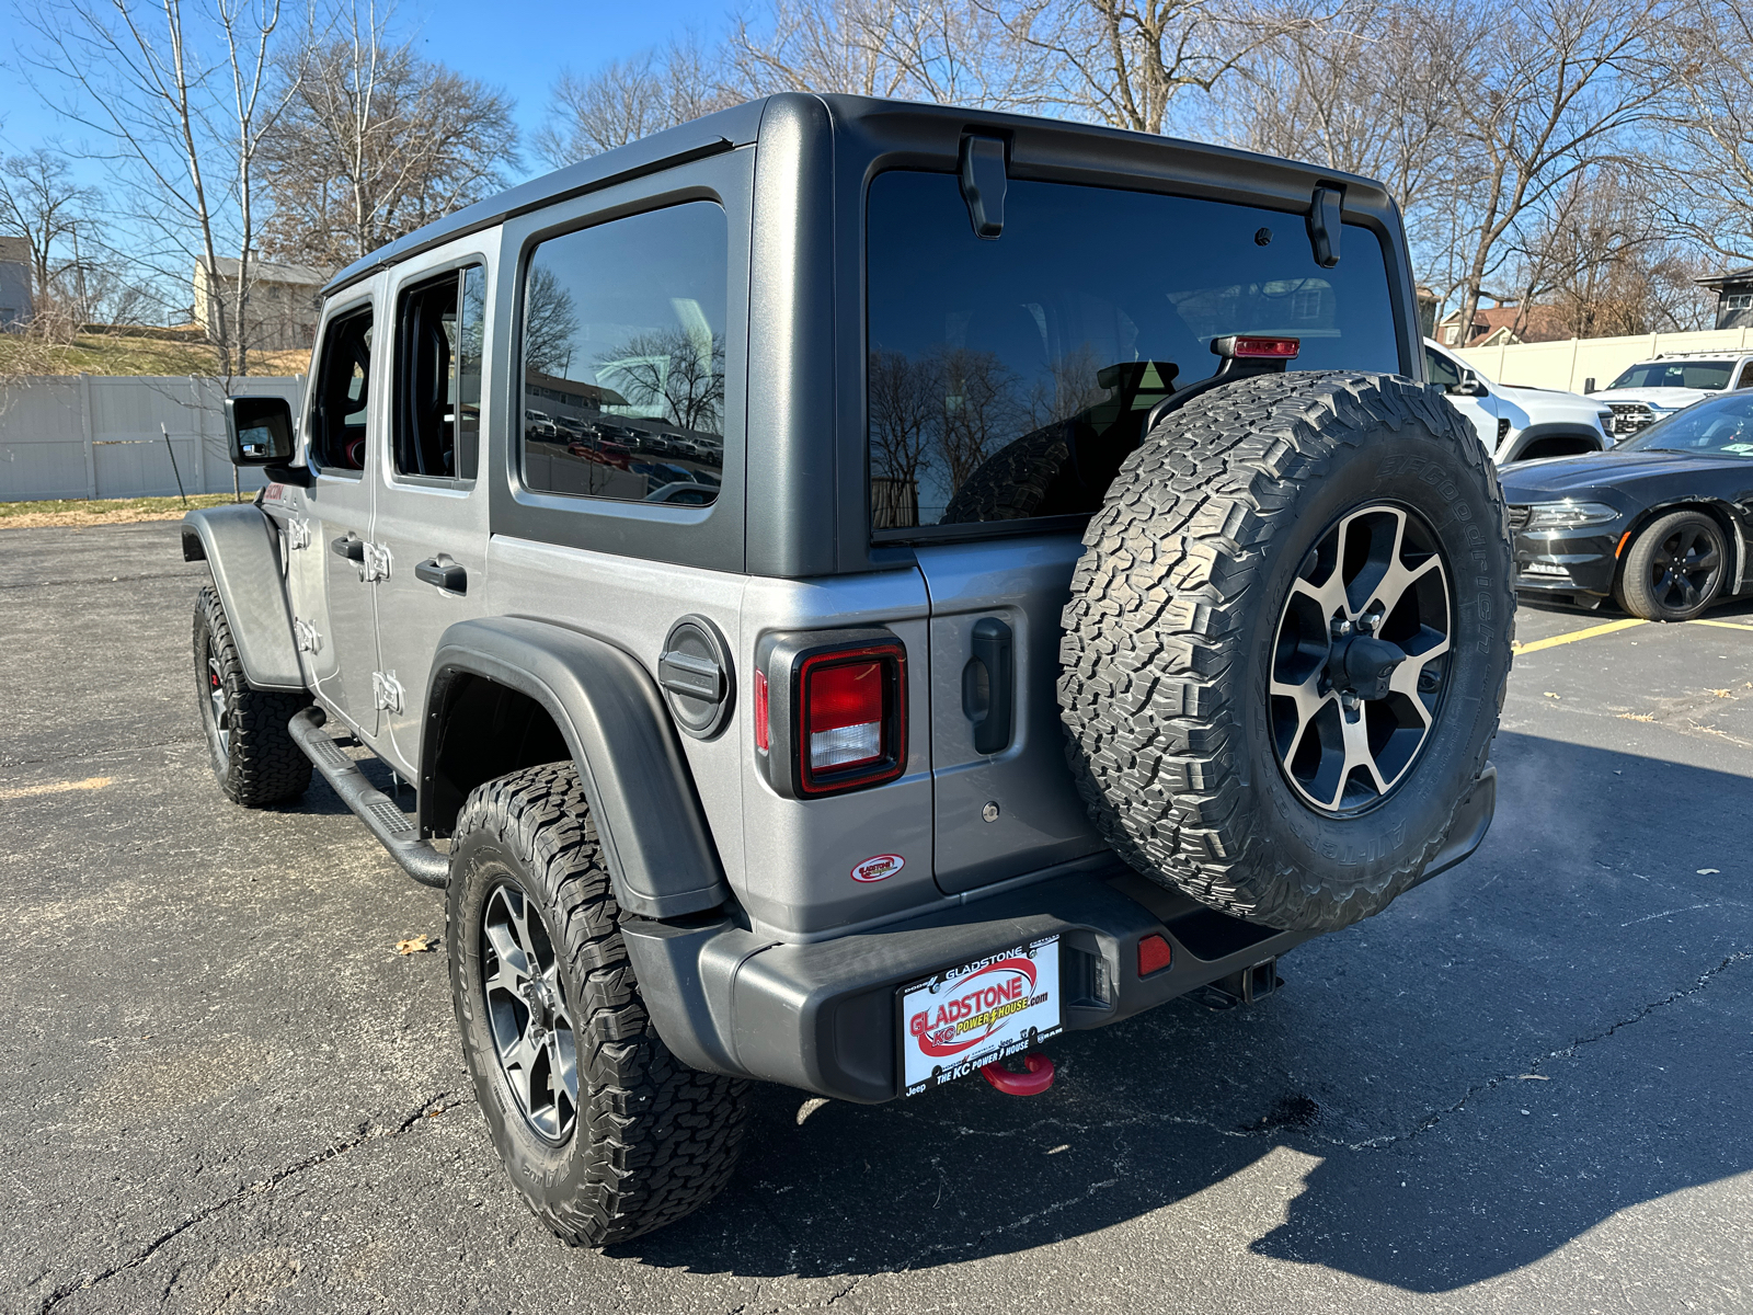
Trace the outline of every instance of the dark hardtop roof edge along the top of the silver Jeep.
<instances>
[{"instance_id":1,"label":"dark hardtop roof edge along the top of the silver Jeep","mask_svg":"<svg viewBox=\"0 0 1753 1315\"><path fill-rule=\"evenodd\" d=\"M529 210L542 209L543 205L580 196L589 191L601 191L626 179L640 177L642 174L650 174L657 168L670 168L673 165L685 163L687 160L698 160L719 154L720 151L752 146L761 133L761 121L766 117L770 107L799 100L824 105L829 117L836 123L857 121L861 126L866 126L878 135L884 133L884 128L919 130L936 126L952 133L950 140L954 142L962 132L996 128L1006 132L1013 139L1027 139L1031 142L1048 146L1048 149L1057 147L1052 151L1054 154L1066 154L1068 147L1071 154L1076 154L1078 140L1082 139L1082 142L1096 147L1090 151L1092 156L1099 154L1111 158L1115 154L1136 154L1141 163L1152 156L1160 158L1164 154L1178 154L1183 158L1199 156L1208 170L1234 174L1241 189L1262 186L1269 181L1271 184L1276 184L1273 186L1273 191L1285 193L1301 189L1301 195L1308 196L1315 184L1329 181L1345 184L1348 202L1352 196L1357 196L1359 200L1367 198L1367 203L1374 203L1378 207L1388 205L1387 191L1380 182L1371 179L1317 165L1302 165L1290 160L1262 156L1252 151L1238 151L1227 146L1210 146L1206 142L1190 142L1178 137L1159 137L1155 133L1129 132L1125 128L1108 128L1104 124L1048 119L1029 114L971 110L955 105L931 105L908 100L875 100L869 96L785 91L763 100L745 102L735 109L706 114L677 128L666 128L661 133L642 137L628 146L605 151L600 156L591 156L577 165L557 168L552 174L543 174L542 177L521 182L515 188L498 193L496 196L487 196L473 205L466 205L454 214L447 214L444 219L435 219L422 228L415 228L412 233L396 238L389 245L379 247L363 259L356 259L352 265L330 279L330 282L323 288L323 295L330 296L349 284L370 277L380 268L396 265L421 251L436 247L444 242L463 237L465 233L491 228L493 224L510 219L512 216L526 214Z\"/></svg>"}]
</instances>

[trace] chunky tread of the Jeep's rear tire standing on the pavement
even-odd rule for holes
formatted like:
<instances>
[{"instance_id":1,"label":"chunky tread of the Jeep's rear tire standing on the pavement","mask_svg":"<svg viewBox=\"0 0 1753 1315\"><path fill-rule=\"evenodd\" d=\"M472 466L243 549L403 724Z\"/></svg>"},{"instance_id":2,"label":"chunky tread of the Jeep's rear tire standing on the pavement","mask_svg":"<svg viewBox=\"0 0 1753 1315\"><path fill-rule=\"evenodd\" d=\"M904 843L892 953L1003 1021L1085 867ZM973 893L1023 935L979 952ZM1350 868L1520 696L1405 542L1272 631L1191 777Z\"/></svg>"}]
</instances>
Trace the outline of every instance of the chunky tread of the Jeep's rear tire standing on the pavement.
<instances>
[{"instance_id":1,"label":"chunky tread of the Jeep's rear tire standing on the pavement","mask_svg":"<svg viewBox=\"0 0 1753 1315\"><path fill-rule=\"evenodd\" d=\"M578 770L547 763L475 787L456 836L473 831L528 864L528 894L543 905L568 989L582 992L573 1136L589 1138L586 1189L570 1203L531 1208L577 1247L628 1241L699 1210L736 1168L749 1084L689 1068L657 1036ZM472 935L452 929L451 945L456 931Z\"/></svg>"}]
</instances>

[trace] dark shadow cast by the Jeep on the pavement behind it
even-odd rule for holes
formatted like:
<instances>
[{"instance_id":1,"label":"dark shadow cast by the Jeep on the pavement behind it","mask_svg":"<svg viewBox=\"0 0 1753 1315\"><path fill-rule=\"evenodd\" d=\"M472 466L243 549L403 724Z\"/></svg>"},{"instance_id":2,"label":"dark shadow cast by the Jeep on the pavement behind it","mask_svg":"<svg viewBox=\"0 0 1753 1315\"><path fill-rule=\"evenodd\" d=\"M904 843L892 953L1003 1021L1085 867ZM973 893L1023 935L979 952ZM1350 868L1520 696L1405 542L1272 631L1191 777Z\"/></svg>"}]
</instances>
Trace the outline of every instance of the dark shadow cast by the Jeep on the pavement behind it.
<instances>
[{"instance_id":1,"label":"dark shadow cast by the Jeep on the pavement behind it","mask_svg":"<svg viewBox=\"0 0 1753 1315\"><path fill-rule=\"evenodd\" d=\"M1753 849L1753 780L1508 733L1495 761L1476 859L1301 947L1278 996L1057 1038L1061 1077L1031 1099L757 1087L724 1198L608 1254L919 1269L1173 1208L1143 1234L1159 1259L1201 1229L1437 1292L1753 1169L1753 905L1732 871L1695 875Z\"/></svg>"}]
</instances>

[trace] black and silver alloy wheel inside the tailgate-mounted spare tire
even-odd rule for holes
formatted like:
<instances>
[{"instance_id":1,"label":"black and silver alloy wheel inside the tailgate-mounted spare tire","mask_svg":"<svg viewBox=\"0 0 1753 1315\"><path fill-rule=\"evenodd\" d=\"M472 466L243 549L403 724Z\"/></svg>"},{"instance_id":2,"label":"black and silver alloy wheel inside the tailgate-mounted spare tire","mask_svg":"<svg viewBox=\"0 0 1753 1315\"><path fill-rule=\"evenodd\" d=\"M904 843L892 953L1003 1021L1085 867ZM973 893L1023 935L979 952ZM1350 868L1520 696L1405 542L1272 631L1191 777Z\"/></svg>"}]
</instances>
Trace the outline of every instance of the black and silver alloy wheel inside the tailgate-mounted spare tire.
<instances>
[{"instance_id":1,"label":"black and silver alloy wheel inside the tailgate-mounted spare tire","mask_svg":"<svg viewBox=\"0 0 1753 1315\"><path fill-rule=\"evenodd\" d=\"M1334 522L1285 598L1267 686L1285 780L1329 817L1385 800L1430 738L1453 594L1436 535L1378 503Z\"/></svg>"}]
</instances>

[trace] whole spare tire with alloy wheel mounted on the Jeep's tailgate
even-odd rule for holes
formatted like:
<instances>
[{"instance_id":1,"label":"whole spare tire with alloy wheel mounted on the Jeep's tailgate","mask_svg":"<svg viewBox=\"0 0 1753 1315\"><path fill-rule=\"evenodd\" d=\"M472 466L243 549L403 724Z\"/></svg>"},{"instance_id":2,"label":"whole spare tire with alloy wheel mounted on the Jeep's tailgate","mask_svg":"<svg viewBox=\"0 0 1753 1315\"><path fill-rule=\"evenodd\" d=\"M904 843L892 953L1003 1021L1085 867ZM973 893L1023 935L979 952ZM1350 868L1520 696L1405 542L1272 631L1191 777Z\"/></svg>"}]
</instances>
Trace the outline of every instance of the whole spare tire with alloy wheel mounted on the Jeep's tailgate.
<instances>
[{"instance_id":1,"label":"whole spare tire with alloy wheel mounted on the Jeep's tailgate","mask_svg":"<svg viewBox=\"0 0 1753 1315\"><path fill-rule=\"evenodd\" d=\"M1059 703L1115 850L1294 931L1415 885L1487 764L1515 624L1460 414L1395 375L1238 380L1150 431L1083 544Z\"/></svg>"}]
</instances>

